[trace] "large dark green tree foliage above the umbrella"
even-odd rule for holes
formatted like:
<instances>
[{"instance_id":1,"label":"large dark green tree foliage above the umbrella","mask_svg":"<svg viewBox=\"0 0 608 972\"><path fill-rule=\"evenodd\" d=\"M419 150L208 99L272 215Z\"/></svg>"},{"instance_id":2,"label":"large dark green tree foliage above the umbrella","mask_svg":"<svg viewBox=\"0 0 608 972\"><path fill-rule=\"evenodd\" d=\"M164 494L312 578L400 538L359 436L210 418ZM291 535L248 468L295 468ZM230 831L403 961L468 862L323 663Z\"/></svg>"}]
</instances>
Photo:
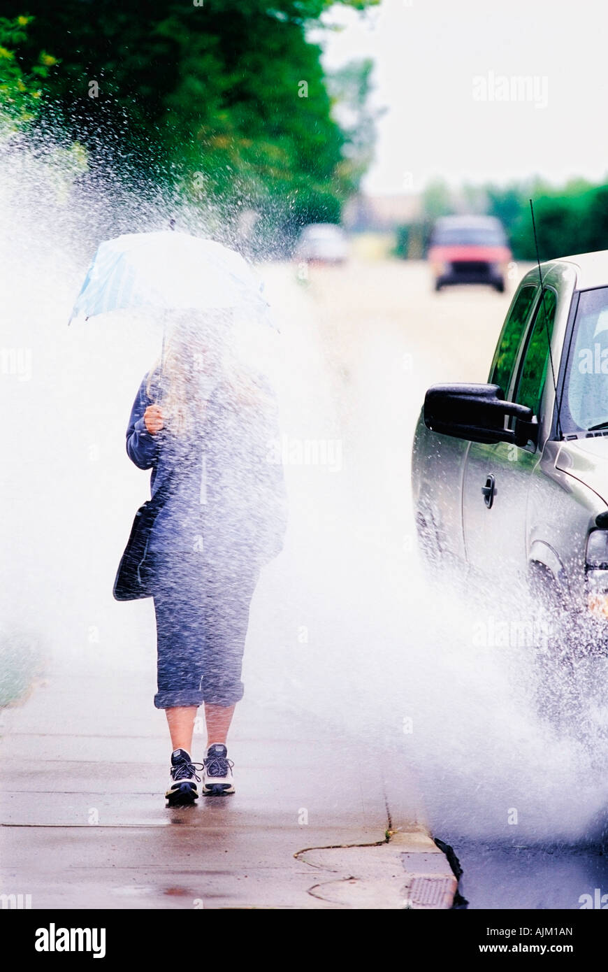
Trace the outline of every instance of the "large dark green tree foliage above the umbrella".
<instances>
[{"instance_id":1,"label":"large dark green tree foliage above the umbrella","mask_svg":"<svg viewBox=\"0 0 608 972\"><path fill-rule=\"evenodd\" d=\"M377 0L340 2L363 10ZM230 200L289 233L338 220L369 157L369 65L350 79L364 124L345 128L321 49L307 39L330 6L29 0L22 65L32 70L41 46L59 58L49 95L93 166L111 153L153 178L169 173L201 203Z\"/></svg>"}]
</instances>

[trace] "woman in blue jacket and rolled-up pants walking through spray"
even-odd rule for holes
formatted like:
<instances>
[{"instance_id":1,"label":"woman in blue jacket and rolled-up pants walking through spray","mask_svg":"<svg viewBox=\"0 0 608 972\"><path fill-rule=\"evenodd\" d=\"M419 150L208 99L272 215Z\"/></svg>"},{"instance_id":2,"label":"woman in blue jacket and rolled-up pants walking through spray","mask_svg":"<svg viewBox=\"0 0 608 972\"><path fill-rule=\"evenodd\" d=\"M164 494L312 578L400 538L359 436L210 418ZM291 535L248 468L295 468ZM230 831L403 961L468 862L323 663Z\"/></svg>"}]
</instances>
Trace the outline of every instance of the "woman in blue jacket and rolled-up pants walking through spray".
<instances>
[{"instance_id":1,"label":"woman in blue jacket and rolled-up pants walking through spray","mask_svg":"<svg viewBox=\"0 0 608 972\"><path fill-rule=\"evenodd\" d=\"M234 792L227 734L243 697L243 650L253 592L281 550L287 506L276 401L265 381L226 364L226 312L175 330L162 367L133 404L126 449L152 469L152 496L167 487L150 538L157 636L157 692L171 735L169 805ZM204 706L207 746L192 760ZM200 774L200 775L199 775Z\"/></svg>"}]
</instances>

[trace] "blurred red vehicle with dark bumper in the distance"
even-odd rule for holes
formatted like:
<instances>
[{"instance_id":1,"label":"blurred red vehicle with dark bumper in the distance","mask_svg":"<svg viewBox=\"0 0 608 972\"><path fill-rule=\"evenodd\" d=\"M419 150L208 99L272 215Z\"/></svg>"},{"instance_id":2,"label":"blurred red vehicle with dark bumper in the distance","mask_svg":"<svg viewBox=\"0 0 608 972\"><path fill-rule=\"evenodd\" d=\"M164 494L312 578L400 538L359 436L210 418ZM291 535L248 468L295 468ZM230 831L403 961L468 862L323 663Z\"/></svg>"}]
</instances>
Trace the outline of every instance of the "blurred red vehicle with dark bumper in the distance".
<instances>
[{"instance_id":1,"label":"blurred red vehicle with dark bumper in the distance","mask_svg":"<svg viewBox=\"0 0 608 972\"><path fill-rule=\"evenodd\" d=\"M494 217L444 216L433 227L427 259L436 291L445 284L490 284L502 293L511 250Z\"/></svg>"}]
</instances>

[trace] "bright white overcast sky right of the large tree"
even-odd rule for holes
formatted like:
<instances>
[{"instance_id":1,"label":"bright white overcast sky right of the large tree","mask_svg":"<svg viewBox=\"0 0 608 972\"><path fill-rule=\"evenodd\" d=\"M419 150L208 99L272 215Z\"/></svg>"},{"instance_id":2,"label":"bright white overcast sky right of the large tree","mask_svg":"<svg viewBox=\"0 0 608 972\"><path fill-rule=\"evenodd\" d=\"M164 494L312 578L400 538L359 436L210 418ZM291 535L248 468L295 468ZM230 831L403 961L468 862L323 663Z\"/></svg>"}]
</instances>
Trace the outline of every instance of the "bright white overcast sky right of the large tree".
<instances>
[{"instance_id":1,"label":"bright white overcast sky right of the large tree","mask_svg":"<svg viewBox=\"0 0 608 972\"><path fill-rule=\"evenodd\" d=\"M383 0L363 16L333 8L326 19L344 25L323 35L326 67L372 57L374 103L387 109L367 191L419 191L436 176L605 178L600 0Z\"/></svg>"}]
</instances>

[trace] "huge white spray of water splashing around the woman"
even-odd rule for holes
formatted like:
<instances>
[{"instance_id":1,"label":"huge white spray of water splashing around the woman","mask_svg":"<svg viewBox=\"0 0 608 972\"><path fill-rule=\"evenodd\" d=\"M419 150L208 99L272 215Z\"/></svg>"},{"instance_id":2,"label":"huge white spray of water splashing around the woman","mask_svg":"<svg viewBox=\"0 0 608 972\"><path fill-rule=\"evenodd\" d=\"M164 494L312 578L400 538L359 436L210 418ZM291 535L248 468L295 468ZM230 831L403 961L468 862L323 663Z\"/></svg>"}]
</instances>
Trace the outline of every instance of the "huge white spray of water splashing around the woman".
<instances>
[{"instance_id":1,"label":"huge white spray of water splashing around the woman","mask_svg":"<svg viewBox=\"0 0 608 972\"><path fill-rule=\"evenodd\" d=\"M66 165L25 146L0 158L2 501L11 510L2 637L36 644L58 665L85 667L93 655L97 665L151 671L152 605L118 605L111 590L147 485L125 456L126 420L159 333L121 313L67 321L100 239L164 228L178 203L117 193L99 176L75 183ZM200 214L177 214L205 230ZM373 328L359 333L345 370L314 286L281 264L264 272L282 331L272 448L285 462L290 521L253 601L248 692L313 713L321 735L371 742L389 767L393 816L415 780L440 834L591 836L606 801L599 732L590 746L589 735L564 735L539 714L529 644L489 634L508 605L429 583L422 570L409 462L425 375L405 380L395 364L403 338Z\"/></svg>"}]
</instances>

